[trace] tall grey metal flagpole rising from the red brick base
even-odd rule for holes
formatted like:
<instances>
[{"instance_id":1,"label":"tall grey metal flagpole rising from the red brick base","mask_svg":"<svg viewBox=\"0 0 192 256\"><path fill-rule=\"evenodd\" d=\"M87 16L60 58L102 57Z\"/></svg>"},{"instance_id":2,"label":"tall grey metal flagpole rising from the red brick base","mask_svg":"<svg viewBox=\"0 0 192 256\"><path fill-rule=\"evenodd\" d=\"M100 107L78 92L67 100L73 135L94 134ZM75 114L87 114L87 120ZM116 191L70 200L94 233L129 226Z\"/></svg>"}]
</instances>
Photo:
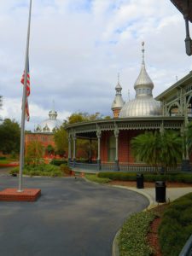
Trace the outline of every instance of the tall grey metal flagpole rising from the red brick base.
<instances>
[{"instance_id":1,"label":"tall grey metal flagpole rising from the red brick base","mask_svg":"<svg viewBox=\"0 0 192 256\"><path fill-rule=\"evenodd\" d=\"M29 8L29 19L28 19L28 31L26 38L26 62L25 62L25 78L23 86L23 97L22 97L22 113L21 113L21 127L20 127L20 173L19 173L19 189L18 192L22 192L22 172L24 166L24 148L25 148L25 114L26 114L26 82L28 73L28 55L29 55L29 38L30 38L30 24L32 15L32 0L30 0Z\"/></svg>"}]
</instances>

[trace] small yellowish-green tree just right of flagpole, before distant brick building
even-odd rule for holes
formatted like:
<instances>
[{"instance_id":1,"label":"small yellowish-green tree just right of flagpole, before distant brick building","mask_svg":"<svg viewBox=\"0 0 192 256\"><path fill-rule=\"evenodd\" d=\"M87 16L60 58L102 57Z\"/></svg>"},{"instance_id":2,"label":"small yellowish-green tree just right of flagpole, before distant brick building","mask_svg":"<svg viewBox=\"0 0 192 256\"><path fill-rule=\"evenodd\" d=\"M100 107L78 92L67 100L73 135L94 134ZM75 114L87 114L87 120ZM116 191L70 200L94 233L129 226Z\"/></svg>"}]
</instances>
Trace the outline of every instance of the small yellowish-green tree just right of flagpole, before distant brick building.
<instances>
[{"instance_id":1,"label":"small yellowish-green tree just right of flagpole, before distant brick building","mask_svg":"<svg viewBox=\"0 0 192 256\"><path fill-rule=\"evenodd\" d=\"M33 166L39 164L39 160L43 157L44 146L38 141L33 141L26 148L26 160L32 162Z\"/></svg>"}]
</instances>

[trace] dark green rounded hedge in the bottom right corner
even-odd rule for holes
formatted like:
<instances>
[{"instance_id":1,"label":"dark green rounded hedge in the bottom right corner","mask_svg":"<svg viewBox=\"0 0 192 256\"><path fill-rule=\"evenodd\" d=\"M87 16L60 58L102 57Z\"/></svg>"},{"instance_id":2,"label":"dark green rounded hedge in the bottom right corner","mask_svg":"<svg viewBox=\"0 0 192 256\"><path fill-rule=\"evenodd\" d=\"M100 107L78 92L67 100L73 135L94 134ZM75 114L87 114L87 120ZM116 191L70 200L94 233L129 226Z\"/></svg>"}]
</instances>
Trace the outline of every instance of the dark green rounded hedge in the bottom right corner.
<instances>
[{"instance_id":1,"label":"dark green rounded hedge in the bottom right corner","mask_svg":"<svg viewBox=\"0 0 192 256\"><path fill-rule=\"evenodd\" d=\"M160 247L163 255L178 255L192 234L192 193L183 195L164 212L160 227Z\"/></svg>"}]
</instances>

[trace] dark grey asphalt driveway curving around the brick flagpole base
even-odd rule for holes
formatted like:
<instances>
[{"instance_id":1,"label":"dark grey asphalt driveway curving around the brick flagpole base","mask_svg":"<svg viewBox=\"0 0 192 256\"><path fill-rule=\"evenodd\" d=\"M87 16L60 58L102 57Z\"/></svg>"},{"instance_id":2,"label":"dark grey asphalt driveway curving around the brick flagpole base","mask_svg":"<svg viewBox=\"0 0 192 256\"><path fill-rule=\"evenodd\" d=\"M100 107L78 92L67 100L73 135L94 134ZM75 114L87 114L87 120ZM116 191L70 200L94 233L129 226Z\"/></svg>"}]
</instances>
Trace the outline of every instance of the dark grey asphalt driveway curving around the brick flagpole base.
<instances>
[{"instance_id":1,"label":"dark grey asphalt driveway curving around the brick flagpole base","mask_svg":"<svg viewBox=\"0 0 192 256\"><path fill-rule=\"evenodd\" d=\"M17 186L17 177L0 178L0 190ZM80 177L28 177L24 187L42 189L42 196L36 202L0 201L1 256L111 255L125 218L148 206L143 195Z\"/></svg>"}]
</instances>

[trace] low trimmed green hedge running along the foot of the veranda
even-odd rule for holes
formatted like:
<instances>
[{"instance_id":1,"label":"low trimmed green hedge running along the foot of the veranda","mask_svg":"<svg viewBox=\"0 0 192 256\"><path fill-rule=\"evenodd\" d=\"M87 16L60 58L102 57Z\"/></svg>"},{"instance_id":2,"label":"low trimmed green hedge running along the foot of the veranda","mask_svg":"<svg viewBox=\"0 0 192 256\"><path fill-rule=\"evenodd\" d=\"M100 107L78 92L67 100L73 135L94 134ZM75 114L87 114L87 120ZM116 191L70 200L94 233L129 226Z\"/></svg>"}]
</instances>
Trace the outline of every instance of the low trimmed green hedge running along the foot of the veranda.
<instances>
[{"instance_id":1,"label":"low trimmed green hedge running along the foot of the veranda","mask_svg":"<svg viewBox=\"0 0 192 256\"><path fill-rule=\"evenodd\" d=\"M136 181L137 173L135 172L99 172L98 177L108 177L111 180L121 181ZM158 180L167 182L182 182L192 183L191 173L171 173L171 174L156 174L156 173L144 173L144 181L155 182Z\"/></svg>"}]
</instances>

